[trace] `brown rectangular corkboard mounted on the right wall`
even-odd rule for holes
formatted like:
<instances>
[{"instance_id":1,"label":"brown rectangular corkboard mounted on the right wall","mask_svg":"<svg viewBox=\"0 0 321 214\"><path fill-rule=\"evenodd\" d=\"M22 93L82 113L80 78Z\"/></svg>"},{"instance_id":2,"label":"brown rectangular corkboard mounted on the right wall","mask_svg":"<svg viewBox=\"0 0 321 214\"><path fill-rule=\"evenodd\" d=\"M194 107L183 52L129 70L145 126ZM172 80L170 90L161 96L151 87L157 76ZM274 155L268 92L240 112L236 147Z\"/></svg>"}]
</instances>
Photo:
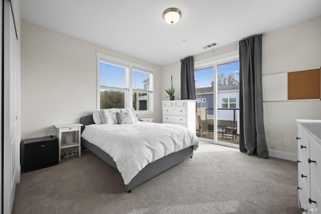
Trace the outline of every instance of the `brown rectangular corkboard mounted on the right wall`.
<instances>
[{"instance_id":1,"label":"brown rectangular corkboard mounted on the right wall","mask_svg":"<svg viewBox=\"0 0 321 214\"><path fill-rule=\"evenodd\" d=\"M321 69L287 73L287 99L321 99Z\"/></svg>"}]
</instances>

